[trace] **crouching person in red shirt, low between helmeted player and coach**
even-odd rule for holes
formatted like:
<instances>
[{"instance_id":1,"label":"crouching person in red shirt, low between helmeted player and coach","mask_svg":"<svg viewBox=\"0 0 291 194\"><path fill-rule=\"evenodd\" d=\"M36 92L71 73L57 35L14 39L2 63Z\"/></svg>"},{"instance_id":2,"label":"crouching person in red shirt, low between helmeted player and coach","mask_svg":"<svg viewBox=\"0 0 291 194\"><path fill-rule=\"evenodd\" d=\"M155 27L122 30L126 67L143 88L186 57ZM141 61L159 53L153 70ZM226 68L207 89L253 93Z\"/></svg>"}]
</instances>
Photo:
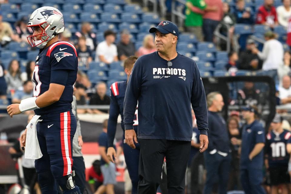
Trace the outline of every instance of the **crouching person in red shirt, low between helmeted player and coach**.
<instances>
[{"instance_id":1,"label":"crouching person in red shirt, low between helmeted player and coach","mask_svg":"<svg viewBox=\"0 0 291 194\"><path fill-rule=\"evenodd\" d=\"M103 175L100 169L100 160L95 160L92 167L89 169L89 185L94 194L101 194L105 192L103 185Z\"/></svg>"}]
</instances>

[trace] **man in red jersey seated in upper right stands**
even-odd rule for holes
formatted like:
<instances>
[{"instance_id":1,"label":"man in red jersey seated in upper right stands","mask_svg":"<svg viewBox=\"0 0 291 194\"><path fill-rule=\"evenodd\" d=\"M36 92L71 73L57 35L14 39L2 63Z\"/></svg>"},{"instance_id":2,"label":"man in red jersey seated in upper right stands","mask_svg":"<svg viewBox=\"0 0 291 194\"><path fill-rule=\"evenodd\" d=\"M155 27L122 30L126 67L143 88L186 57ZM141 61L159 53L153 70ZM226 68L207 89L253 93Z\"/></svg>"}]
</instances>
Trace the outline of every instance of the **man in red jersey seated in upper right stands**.
<instances>
[{"instance_id":1,"label":"man in red jersey seated in upper right stands","mask_svg":"<svg viewBox=\"0 0 291 194\"><path fill-rule=\"evenodd\" d=\"M276 8L273 6L273 0L265 0L257 14L256 24L268 25L271 28L278 25Z\"/></svg>"}]
</instances>

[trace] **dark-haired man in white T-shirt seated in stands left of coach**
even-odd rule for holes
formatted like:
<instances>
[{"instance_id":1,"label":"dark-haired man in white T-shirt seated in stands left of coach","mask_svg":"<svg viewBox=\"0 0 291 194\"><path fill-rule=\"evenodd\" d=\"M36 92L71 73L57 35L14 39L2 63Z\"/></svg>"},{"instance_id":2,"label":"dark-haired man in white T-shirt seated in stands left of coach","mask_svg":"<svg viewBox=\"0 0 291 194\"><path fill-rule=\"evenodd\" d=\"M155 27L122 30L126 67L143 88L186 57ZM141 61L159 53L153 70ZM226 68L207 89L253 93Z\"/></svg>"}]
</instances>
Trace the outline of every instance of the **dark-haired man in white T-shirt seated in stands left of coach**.
<instances>
[{"instance_id":1,"label":"dark-haired man in white T-shirt seated in stands left of coach","mask_svg":"<svg viewBox=\"0 0 291 194\"><path fill-rule=\"evenodd\" d=\"M100 42L97 46L95 61L107 64L118 61L117 47L113 44L115 42L115 33L111 30L106 30L104 38L105 41Z\"/></svg>"}]
</instances>

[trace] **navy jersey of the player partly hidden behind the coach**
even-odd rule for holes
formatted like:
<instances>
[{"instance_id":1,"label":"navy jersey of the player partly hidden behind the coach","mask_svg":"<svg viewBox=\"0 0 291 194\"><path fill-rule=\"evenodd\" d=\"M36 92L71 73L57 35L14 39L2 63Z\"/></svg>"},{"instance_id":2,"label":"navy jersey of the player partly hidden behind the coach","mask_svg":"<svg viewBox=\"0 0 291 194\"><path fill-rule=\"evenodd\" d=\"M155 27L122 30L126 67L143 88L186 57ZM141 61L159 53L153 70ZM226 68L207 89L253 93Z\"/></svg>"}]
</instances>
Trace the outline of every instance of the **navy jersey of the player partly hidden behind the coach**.
<instances>
[{"instance_id":1,"label":"navy jersey of the player partly hidden behind the coach","mask_svg":"<svg viewBox=\"0 0 291 194\"><path fill-rule=\"evenodd\" d=\"M124 123L123 123L123 101L126 90L126 81L115 82L110 86L110 109L109 109L109 119L108 119L108 146L113 146L113 141L116 132L117 118L118 115L121 115L121 128L123 129L124 134ZM137 108L135 110L135 118L134 118L134 129L135 133L137 133L137 126L139 125L138 121L138 111Z\"/></svg>"}]
</instances>

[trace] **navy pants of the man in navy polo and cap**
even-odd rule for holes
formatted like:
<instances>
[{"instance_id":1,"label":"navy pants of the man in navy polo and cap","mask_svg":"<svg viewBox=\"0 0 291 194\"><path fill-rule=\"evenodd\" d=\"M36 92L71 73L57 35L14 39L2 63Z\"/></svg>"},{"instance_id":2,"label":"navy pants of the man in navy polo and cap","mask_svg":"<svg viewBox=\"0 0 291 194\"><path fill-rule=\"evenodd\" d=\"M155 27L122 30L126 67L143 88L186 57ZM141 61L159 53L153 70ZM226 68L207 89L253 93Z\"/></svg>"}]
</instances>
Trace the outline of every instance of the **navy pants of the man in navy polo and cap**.
<instances>
[{"instance_id":1,"label":"navy pants of the man in navy polo and cap","mask_svg":"<svg viewBox=\"0 0 291 194\"><path fill-rule=\"evenodd\" d=\"M262 187L263 171L262 169L241 169L240 181L246 194L265 194Z\"/></svg>"}]
</instances>

